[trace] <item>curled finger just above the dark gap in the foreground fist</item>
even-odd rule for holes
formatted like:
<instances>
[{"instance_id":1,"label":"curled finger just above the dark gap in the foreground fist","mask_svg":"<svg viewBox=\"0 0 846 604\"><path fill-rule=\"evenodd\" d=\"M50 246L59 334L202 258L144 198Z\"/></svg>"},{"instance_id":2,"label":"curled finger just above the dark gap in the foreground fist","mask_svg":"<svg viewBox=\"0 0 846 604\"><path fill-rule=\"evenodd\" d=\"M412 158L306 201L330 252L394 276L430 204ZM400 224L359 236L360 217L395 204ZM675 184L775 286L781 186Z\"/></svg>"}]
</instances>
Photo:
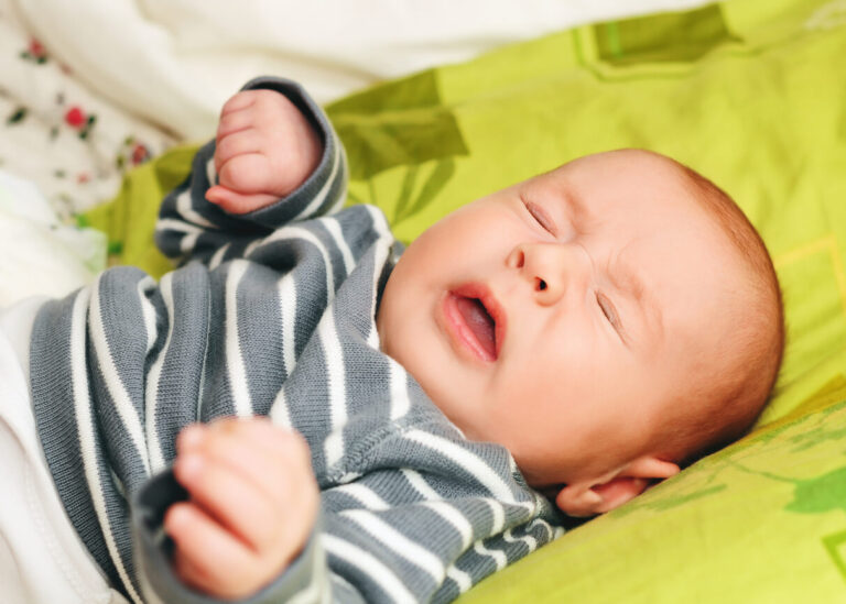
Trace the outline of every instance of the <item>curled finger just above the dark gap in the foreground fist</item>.
<instances>
[{"instance_id":1,"label":"curled finger just above the dark gap in the foreground fist","mask_svg":"<svg viewBox=\"0 0 846 604\"><path fill-rule=\"evenodd\" d=\"M278 509L251 480L193 452L176 458L173 472L193 501L254 551L268 548L276 538Z\"/></svg>"}]
</instances>

